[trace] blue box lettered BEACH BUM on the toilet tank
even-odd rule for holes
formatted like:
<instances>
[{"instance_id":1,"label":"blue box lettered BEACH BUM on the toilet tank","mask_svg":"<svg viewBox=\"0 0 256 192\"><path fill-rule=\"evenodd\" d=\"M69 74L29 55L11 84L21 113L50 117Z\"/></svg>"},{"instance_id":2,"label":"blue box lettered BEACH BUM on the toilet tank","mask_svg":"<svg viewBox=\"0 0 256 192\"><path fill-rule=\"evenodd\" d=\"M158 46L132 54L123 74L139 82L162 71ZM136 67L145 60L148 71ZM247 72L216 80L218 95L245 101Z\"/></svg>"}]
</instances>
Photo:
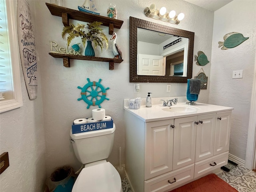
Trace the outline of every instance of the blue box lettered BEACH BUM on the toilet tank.
<instances>
[{"instance_id":1,"label":"blue box lettered BEACH BUM on the toilet tank","mask_svg":"<svg viewBox=\"0 0 256 192\"><path fill-rule=\"evenodd\" d=\"M86 123L86 124L78 124L78 125L74 125L74 122L73 122L72 134L88 132L88 131L96 131L96 130L102 130L102 129L109 129L109 128L113 128L113 119L112 118L110 121L100 121L100 122L95 122L95 123Z\"/></svg>"}]
</instances>

